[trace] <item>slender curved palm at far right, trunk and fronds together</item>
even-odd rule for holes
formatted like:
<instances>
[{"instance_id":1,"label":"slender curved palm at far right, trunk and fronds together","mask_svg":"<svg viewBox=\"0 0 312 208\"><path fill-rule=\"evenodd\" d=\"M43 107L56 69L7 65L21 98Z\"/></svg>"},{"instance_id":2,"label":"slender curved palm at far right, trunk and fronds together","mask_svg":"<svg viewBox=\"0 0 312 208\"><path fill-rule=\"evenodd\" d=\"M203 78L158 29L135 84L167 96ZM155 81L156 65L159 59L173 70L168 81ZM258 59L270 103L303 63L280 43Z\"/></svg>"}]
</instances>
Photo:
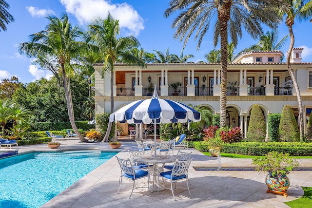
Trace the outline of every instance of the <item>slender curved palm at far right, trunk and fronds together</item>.
<instances>
[{"instance_id":1,"label":"slender curved palm at far right, trunk and fronds together","mask_svg":"<svg viewBox=\"0 0 312 208\"><path fill-rule=\"evenodd\" d=\"M287 68L288 72L292 78L292 84L297 94L297 102L298 102L298 111L299 111L299 130L300 130L300 141L304 140L304 118L303 118L303 110L302 110L302 101L299 86L296 80L296 77L292 70L291 64L291 54L294 44L294 35L292 31L292 26L294 25L294 20L297 19L299 22L311 19L312 16L312 1L311 0L285 0L285 2L290 7L285 10L285 23L288 26L289 36L290 36L290 45L287 51Z\"/></svg>"}]
</instances>

